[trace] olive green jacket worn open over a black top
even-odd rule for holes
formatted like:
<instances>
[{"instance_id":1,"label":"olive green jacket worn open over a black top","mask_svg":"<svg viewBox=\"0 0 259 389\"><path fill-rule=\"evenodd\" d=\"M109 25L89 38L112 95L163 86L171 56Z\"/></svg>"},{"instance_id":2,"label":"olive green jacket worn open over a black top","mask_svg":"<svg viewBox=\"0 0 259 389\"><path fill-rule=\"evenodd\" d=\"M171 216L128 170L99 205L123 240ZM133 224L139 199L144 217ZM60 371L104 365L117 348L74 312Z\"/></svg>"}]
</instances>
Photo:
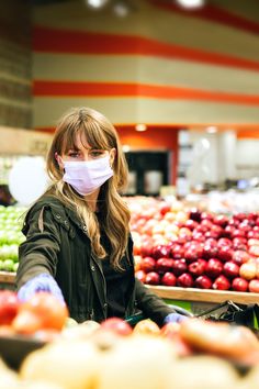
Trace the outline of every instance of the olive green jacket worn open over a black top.
<instances>
[{"instance_id":1,"label":"olive green jacket worn open over a black top","mask_svg":"<svg viewBox=\"0 0 259 389\"><path fill-rule=\"evenodd\" d=\"M102 266L91 253L87 226L77 213L58 199L45 196L31 208L22 231L26 241L19 247L18 289L31 278L47 273L59 285L71 318L78 322L106 319ZM127 252L132 265L132 292L125 318L140 310L161 325L172 309L135 279L131 236Z\"/></svg>"}]
</instances>

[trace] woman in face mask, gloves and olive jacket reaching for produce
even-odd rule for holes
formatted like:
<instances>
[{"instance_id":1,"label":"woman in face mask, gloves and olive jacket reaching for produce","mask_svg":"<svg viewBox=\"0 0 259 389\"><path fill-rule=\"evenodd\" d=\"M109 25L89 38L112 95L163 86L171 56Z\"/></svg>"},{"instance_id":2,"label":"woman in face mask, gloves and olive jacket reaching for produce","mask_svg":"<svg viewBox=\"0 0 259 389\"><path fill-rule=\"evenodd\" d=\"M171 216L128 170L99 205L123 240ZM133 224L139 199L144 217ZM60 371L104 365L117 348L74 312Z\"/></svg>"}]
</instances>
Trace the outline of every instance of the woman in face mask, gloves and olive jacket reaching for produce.
<instances>
[{"instance_id":1,"label":"woman in face mask, gloves and olive jacket reaching for produce","mask_svg":"<svg viewBox=\"0 0 259 389\"><path fill-rule=\"evenodd\" d=\"M52 185L29 210L19 249L21 300L47 290L78 322L127 318L140 310L159 325L180 321L134 277L130 211L119 194L127 166L114 126L76 108L57 125L47 156Z\"/></svg>"}]
</instances>

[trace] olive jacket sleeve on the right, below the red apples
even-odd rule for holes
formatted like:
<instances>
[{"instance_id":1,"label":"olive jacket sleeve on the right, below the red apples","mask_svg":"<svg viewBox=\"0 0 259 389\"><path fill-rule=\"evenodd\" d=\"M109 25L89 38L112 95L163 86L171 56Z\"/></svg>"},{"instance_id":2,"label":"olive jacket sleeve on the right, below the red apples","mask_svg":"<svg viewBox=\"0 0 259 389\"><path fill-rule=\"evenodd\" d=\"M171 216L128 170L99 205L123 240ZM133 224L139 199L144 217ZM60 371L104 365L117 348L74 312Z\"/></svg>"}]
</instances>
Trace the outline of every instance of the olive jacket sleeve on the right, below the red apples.
<instances>
[{"instance_id":1,"label":"olive jacket sleeve on the right, below the red apples","mask_svg":"<svg viewBox=\"0 0 259 389\"><path fill-rule=\"evenodd\" d=\"M165 318L174 312L161 298L153 293L137 278L135 279L135 296L137 308L158 325L164 324Z\"/></svg>"}]
</instances>

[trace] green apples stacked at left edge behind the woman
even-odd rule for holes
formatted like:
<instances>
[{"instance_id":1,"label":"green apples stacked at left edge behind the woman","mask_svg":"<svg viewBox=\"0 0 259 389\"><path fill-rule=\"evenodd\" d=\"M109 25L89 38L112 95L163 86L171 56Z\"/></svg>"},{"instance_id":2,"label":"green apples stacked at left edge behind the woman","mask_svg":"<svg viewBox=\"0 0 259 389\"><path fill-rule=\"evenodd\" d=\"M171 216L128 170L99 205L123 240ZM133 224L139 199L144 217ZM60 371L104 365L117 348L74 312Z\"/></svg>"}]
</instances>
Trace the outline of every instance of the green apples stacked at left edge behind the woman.
<instances>
[{"instance_id":1,"label":"green apples stacked at left edge behind the woman","mask_svg":"<svg viewBox=\"0 0 259 389\"><path fill-rule=\"evenodd\" d=\"M0 205L0 270L16 271L18 246L25 240L21 232L24 212L21 207Z\"/></svg>"}]
</instances>

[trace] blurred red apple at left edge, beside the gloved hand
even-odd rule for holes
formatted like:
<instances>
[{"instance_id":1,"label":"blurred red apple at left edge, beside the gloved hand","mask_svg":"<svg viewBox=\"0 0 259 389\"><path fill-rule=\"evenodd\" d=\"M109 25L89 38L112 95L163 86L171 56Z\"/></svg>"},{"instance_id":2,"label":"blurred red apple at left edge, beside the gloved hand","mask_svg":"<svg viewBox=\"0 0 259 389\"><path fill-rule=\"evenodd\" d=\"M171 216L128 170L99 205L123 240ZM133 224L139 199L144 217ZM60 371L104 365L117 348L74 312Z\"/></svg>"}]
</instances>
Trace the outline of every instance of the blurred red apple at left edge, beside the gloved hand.
<instances>
[{"instance_id":1,"label":"blurred red apple at left edge, beside the gloved hand","mask_svg":"<svg viewBox=\"0 0 259 389\"><path fill-rule=\"evenodd\" d=\"M20 307L18 294L12 290L0 290L0 325L9 325Z\"/></svg>"}]
</instances>

